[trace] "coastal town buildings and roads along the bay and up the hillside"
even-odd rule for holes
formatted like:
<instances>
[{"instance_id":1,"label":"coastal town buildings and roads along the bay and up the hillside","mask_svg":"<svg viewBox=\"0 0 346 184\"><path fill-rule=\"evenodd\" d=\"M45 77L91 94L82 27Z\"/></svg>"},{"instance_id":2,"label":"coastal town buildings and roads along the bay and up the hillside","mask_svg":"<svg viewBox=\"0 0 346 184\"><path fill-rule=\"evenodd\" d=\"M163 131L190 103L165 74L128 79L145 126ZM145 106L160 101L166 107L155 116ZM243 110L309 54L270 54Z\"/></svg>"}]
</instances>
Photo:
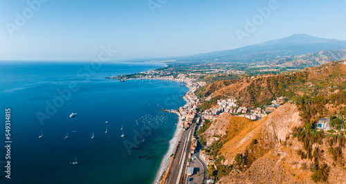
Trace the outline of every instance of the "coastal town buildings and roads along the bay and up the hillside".
<instances>
[{"instance_id":1,"label":"coastal town buildings and roads along the bay and up the hillside","mask_svg":"<svg viewBox=\"0 0 346 184\"><path fill-rule=\"evenodd\" d=\"M213 70L208 73L217 73L218 70ZM225 72L225 71L221 71ZM237 72L242 73L242 72ZM149 70L131 76L112 76L109 79L131 80L131 79L161 79L170 81L179 81L184 83L189 88L188 92L183 96L186 104L176 110L164 110L166 112L175 113L179 116L177 124L176 141L172 143L172 152L167 153L169 156L166 159L168 163L161 163L161 169L156 174L154 183L215 183L214 176L208 176L208 168L214 167L217 170L214 156L211 156L207 151L209 146L201 147L197 130L204 125L206 121L215 121L223 113L230 113L233 116L241 116L251 121L258 121L268 116L286 102L285 96L280 96L270 105L260 107L246 107L238 104L235 97L226 99L218 99L216 105L212 108L199 111L201 99L195 94L196 91L205 86L205 81L199 81L198 73L182 74L170 70ZM212 96L205 99L209 101ZM325 133L333 133L335 130L345 131L343 123L340 127L335 124L338 121L342 122L338 115L322 118L316 122L316 130L322 130ZM331 123L333 122L333 123ZM333 124L333 126L331 126ZM203 149L204 148L204 149Z\"/></svg>"}]
</instances>

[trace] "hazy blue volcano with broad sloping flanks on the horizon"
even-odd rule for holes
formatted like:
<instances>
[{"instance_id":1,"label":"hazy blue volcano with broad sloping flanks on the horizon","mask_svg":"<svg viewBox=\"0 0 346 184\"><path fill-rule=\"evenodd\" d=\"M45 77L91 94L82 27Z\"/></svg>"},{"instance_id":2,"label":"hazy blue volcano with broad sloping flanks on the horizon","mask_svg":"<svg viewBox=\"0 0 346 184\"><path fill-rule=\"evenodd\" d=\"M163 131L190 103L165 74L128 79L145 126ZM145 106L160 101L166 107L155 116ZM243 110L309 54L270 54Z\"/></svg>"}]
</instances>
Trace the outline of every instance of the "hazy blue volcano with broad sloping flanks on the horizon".
<instances>
[{"instance_id":1,"label":"hazy blue volcano with broad sloping flanks on the horizon","mask_svg":"<svg viewBox=\"0 0 346 184\"><path fill-rule=\"evenodd\" d=\"M178 57L176 61L209 61L229 63L271 63L277 59L295 57L321 50L346 49L346 41L323 39L307 34L293 34L291 37L249 45L234 50L224 50L192 56Z\"/></svg>"}]
</instances>

